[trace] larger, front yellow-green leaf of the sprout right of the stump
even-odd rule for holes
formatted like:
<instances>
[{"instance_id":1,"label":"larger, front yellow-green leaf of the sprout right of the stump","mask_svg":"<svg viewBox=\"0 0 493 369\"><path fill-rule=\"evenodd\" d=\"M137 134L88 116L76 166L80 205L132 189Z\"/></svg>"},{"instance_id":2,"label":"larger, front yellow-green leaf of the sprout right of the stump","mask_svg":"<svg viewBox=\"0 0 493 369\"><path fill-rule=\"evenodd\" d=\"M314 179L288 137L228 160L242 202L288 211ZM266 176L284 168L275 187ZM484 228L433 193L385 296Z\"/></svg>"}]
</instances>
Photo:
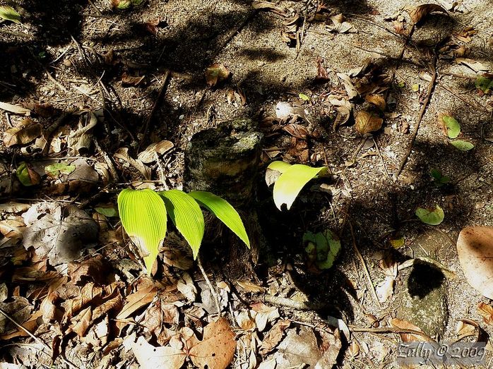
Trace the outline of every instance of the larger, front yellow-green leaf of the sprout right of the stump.
<instances>
[{"instance_id":1,"label":"larger, front yellow-green leaf of the sprout right of the stump","mask_svg":"<svg viewBox=\"0 0 493 369\"><path fill-rule=\"evenodd\" d=\"M323 170L327 169L325 167L312 168L304 164L294 164L287 168L274 184L275 206L281 210L283 204L286 204L287 210L290 210L299 191Z\"/></svg>"}]
</instances>

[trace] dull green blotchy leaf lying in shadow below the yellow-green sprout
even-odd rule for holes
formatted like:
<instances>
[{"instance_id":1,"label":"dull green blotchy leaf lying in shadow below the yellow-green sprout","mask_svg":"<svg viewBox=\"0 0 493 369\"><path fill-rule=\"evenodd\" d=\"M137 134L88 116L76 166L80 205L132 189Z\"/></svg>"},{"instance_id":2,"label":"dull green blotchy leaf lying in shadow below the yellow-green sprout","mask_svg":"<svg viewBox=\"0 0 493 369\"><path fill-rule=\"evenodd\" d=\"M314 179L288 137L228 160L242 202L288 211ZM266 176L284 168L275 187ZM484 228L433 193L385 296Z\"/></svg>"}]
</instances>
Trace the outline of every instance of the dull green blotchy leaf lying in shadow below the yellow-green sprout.
<instances>
[{"instance_id":1,"label":"dull green blotchy leaf lying in shadow below the yellow-green sprout","mask_svg":"<svg viewBox=\"0 0 493 369\"><path fill-rule=\"evenodd\" d=\"M307 243L305 251L319 269L330 269L340 252L340 240L330 229L317 234L306 232L303 243Z\"/></svg>"}]
</instances>

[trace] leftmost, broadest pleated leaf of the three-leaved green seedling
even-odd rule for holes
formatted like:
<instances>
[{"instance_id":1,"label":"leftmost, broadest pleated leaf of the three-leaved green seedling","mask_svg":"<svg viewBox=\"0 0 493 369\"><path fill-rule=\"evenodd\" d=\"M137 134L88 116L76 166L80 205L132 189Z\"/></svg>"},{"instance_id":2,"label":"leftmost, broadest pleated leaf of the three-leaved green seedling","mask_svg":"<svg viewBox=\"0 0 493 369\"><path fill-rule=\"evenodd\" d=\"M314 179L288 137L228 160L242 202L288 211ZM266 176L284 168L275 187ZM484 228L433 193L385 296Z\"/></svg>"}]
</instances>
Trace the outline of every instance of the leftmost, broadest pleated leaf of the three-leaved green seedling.
<instances>
[{"instance_id":1,"label":"leftmost, broadest pleated leaf of the three-leaved green seedling","mask_svg":"<svg viewBox=\"0 0 493 369\"><path fill-rule=\"evenodd\" d=\"M153 190L122 190L118 195L121 224L140 248L148 274L166 236L166 207Z\"/></svg>"}]
</instances>

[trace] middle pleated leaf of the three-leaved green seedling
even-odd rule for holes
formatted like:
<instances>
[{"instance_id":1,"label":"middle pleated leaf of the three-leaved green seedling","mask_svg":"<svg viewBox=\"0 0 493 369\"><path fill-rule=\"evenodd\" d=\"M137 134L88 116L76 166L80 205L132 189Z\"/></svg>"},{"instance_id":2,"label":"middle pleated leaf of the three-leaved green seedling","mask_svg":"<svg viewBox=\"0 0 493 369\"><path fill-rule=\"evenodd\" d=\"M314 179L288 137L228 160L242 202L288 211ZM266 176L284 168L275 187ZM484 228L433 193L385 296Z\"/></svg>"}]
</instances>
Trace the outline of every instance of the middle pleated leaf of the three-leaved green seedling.
<instances>
[{"instance_id":1,"label":"middle pleated leaf of the three-leaved green seedling","mask_svg":"<svg viewBox=\"0 0 493 369\"><path fill-rule=\"evenodd\" d=\"M196 259L206 228L201 208L194 198L181 190L162 191L158 194L165 201L167 213L174 226L189 243Z\"/></svg>"}]
</instances>

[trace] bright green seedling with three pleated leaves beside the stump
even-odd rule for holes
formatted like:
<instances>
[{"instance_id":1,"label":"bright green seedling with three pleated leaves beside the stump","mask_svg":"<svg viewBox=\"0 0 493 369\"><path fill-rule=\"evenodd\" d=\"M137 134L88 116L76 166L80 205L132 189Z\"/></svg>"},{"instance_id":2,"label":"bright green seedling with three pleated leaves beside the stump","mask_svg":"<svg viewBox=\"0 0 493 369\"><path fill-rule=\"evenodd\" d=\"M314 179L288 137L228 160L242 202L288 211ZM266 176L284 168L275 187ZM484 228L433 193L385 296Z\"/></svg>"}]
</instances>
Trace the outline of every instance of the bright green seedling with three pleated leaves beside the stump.
<instances>
[{"instance_id":1,"label":"bright green seedling with three pleated leaves beside the stump","mask_svg":"<svg viewBox=\"0 0 493 369\"><path fill-rule=\"evenodd\" d=\"M150 275L160 246L166 237L167 217L184 236L194 259L198 256L205 222L200 207L212 212L250 248L242 219L229 202L206 191L122 190L118 195L121 224L133 243L139 248Z\"/></svg>"}]
</instances>

